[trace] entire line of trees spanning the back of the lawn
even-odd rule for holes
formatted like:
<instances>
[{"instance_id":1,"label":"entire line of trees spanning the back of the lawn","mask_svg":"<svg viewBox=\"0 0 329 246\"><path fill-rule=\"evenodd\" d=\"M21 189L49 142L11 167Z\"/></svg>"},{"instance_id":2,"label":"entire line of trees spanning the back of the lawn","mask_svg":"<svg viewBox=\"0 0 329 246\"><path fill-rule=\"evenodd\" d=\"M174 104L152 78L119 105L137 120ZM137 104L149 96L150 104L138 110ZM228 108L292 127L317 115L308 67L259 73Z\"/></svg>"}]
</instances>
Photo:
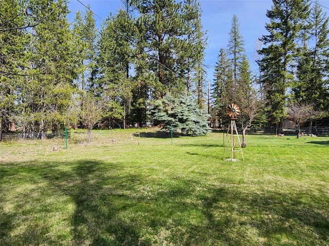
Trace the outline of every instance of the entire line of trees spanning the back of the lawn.
<instances>
[{"instance_id":1,"label":"entire line of trees spanning the back of the lawn","mask_svg":"<svg viewBox=\"0 0 329 246\"><path fill-rule=\"evenodd\" d=\"M166 126L208 131L207 36L197 0L126 0L100 28L89 6L72 23L68 13L65 0L0 2L0 133L145 126L152 113ZM226 123L229 103L242 108L243 129L279 122L293 103L328 111L327 16L306 0L273 0L266 15L257 73L233 16L211 85L213 127ZM187 124L173 118L174 108L198 116L184 116Z\"/></svg>"}]
</instances>

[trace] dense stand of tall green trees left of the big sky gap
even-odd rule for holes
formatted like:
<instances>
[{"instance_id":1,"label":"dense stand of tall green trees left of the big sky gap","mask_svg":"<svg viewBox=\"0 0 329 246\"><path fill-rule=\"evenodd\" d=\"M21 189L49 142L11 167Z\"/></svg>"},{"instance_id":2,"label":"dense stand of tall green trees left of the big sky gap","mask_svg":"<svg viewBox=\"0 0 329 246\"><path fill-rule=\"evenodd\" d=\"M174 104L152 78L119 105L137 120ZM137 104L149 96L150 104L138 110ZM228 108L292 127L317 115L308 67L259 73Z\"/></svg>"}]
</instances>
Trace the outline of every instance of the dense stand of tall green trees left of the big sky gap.
<instances>
[{"instance_id":1,"label":"dense stand of tall green trees left of the big sky gap","mask_svg":"<svg viewBox=\"0 0 329 246\"><path fill-rule=\"evenodd\" d=\"M204 107L207 38L196 0L124 1L100 29L89 6L69 23L65 0L4 0L0 9L0 132L13 122L41 135L85 127L86 94L106 128L145 126L148 105L167 94L187 91Z\"/></svg>"}]
</instances>

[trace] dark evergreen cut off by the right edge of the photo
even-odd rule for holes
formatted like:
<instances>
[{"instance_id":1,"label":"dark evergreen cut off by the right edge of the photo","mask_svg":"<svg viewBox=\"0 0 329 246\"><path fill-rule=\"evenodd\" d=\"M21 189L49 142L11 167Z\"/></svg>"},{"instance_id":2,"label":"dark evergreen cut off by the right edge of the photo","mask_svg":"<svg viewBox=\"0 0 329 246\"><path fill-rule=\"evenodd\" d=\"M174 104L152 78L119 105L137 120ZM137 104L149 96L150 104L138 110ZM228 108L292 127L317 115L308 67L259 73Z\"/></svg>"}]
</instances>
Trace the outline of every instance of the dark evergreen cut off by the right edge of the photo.
<instances>
[{"instance_id":1,"label":"dark evergreen cut off by the right edge of the photo","mask_svg":"<svg viewBox=\"0 0 329 246\"><path fill-rule=\"evenodd\" d=\"M315 110L326 110L328 88L328 17L316 2L309 17L309 35L304 35L301 55L298 59L298 83L293 88L299 104L312 104ZM314 47L307 47L308 40L314 40ZM313 43L313 42L311 42Z\"/></svg>"}]
</instances>

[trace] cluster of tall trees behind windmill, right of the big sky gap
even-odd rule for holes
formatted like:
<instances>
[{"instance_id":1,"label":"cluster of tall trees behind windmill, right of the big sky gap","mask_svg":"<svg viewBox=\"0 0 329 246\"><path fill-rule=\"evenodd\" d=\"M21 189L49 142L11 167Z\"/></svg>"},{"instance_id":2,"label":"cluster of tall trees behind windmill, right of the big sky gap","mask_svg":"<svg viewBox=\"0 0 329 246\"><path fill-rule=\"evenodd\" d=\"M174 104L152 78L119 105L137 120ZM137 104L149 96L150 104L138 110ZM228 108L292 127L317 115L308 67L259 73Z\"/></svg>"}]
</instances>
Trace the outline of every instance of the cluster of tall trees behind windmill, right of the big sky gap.
<instances>
[{"instance_id":1,"label":"cluster of tall trees behind windmill, right of the big sky gap","mask_svg":"<svg viewBox=\"0 0 329 246\"><path fill-rule=\"evenodd\" d=\"M273 0L266 16L268 34L255 43L251 71L239 20L234 15L227 48L215 65L212 121L224 125L231 101L247 113L240 125L277 125L285 118L299 124L328 124L328 17L318 2Z\"/></svg>"}]
</instances>

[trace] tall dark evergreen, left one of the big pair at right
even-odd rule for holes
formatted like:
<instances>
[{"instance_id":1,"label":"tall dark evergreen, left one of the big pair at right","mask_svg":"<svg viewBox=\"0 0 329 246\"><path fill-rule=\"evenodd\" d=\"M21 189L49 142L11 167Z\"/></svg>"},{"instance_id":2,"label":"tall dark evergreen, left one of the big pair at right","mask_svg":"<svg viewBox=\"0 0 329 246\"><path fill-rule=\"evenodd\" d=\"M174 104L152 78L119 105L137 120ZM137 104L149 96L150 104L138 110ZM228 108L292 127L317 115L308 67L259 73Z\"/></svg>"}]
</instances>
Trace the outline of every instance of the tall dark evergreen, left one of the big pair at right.
<instances>
[{"instance_id":1,"label":"tall dark evergreen, left one of the big pair at right","mask_svg":"<svg viewBox=\"0 0 329 246\"><path fill-rule=\"evenodd\" d=\"M259 64L272 122L280 121L286 114L286 92L294 79L289 74L293 70L298 38L306 28L308 7L306 0L273 0L272 8L266 13L270 19L265 26L269 34L261 38L267 47L259 51L262 55Z\"/></svg>"}]
</instances>

